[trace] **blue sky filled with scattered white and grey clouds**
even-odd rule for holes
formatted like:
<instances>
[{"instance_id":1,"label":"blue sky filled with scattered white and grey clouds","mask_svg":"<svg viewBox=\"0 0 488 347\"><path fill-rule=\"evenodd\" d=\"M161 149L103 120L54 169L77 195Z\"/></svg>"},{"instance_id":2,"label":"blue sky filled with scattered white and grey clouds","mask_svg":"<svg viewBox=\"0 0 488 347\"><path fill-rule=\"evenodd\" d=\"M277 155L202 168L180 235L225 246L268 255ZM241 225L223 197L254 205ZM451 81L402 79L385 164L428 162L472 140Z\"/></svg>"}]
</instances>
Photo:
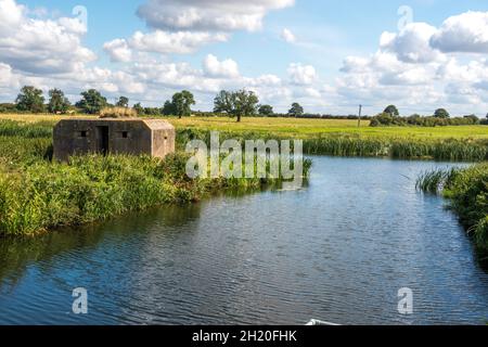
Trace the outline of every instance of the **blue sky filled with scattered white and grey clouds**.
<instances>
[{"instance_id":1,"label":"blue sky filled with scattered white and grey clouds","mask_svg":"<svg viewBox=\"0 0 488 347\"><path fill-rule=\"evenodd\" d=\"M285 112L488 113L486 0L0 0L0 101L24 85L160 106L256 91Z\"/></svg>"}]
</instances>

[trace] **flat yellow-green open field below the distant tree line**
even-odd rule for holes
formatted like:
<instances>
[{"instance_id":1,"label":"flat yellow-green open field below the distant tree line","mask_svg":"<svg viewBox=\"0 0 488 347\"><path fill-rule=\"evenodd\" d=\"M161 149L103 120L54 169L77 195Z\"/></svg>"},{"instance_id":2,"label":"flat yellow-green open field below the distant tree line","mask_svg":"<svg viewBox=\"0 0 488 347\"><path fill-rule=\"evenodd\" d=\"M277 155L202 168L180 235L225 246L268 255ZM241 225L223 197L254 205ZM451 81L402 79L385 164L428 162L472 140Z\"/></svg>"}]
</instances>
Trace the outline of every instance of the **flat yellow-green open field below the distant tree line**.
<instances>
[{"instance_id":1,"label":"flat yellow-green open field below the distant tree line","mask_svg":"<svg viewBox=\"0 0 488 347\"><path fill-rule=\"evenodd\" d=\"M73 116L53 115L20 115L0 114L0 119L12 119L17 121L52 121ZM77 115L77 117L90 117ZM194 128L202 130L220 131L252 131L262 133L273 133L280 137L292 138L317 138L320 136L354 136L369 138L416 138L416 139L466 139L466 140L488 140L488 126L453 126L453 127L369 127L369 121L361 121L358 128L357 120L343 119L296 119L296 118L243 118L236 123L233 118L227 117L187 117L177 119L165 117L177 128Z\"/></svg>"}]
</instances>

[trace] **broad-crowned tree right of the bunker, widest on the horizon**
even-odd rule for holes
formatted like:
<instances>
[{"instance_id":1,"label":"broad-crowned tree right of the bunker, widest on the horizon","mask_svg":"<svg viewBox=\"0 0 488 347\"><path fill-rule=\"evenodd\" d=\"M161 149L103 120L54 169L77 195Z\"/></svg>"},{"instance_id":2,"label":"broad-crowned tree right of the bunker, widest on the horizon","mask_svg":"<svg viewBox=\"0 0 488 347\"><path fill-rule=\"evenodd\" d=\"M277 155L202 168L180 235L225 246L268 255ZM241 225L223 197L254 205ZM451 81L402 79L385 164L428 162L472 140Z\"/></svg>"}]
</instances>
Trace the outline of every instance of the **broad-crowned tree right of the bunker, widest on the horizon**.
<instances>
[{"instance_id":1,"label":"broad-crowned tree right of the bunker, widest on the horizon","mask_svg":"<svg viewBox=\"0 0 488 347\"><path fill-rule=\"evenodd\" d=\"M222 90L214 100L214 112L227 113L231 117L237 117L237 121L241 121L242 117L256 114L258 103L259 99L253 91Z\"/></svg>"}]
</instances>

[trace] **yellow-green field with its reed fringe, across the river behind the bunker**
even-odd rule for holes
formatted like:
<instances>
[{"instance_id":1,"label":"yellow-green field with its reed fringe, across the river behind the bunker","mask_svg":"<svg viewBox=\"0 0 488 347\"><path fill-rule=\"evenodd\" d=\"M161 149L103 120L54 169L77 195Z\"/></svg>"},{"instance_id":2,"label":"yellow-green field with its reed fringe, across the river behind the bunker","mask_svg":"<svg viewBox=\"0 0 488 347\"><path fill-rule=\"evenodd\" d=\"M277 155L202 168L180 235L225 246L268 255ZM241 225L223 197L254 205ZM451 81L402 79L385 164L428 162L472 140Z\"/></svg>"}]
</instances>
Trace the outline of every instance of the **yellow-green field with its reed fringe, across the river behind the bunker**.
<instances>
[{"instance_id":1,"label":"yellow-green field with its reed fringe, across the river behind the bunker","mask_svg":"<svg viewBox=\"0 0 488 347\"><path fill-rule=\"evenodd\" d=\"M0 120L0 136L18 131L26 136L43 137L51 133L51 128L60 116L0 115L0 119L2 118L16 121L7 121L2 127L3 121ZM16 129L21 119L30 130ZM373 128L368 126L368 121L363 121L362 127L358 128L356 120L252 117L244 118L240 124L223 117L167 120L177 127L179 149L183 149L189 139L202 139L208 143L209 131L217 130L221 140L303 139L306 154L455 162L488 159L488 126Z\"/></svg>"}]
</instances>

